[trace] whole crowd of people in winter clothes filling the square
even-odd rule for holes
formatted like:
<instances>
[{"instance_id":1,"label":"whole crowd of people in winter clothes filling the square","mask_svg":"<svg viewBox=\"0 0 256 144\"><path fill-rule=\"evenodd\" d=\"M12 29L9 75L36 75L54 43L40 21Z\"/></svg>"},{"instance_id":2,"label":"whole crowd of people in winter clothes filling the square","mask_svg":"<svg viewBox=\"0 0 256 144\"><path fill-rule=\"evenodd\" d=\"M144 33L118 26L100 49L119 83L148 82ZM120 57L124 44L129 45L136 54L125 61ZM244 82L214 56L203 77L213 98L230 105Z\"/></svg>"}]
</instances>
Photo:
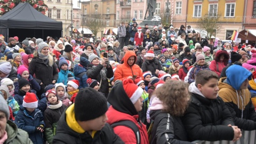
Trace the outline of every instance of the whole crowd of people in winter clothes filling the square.
<instances>
[{"instance_id":1,"label":"whole crowd of people in winter clothes filling the square","mask_svg":"<svg viewBox=\"0 0 256 144\"><path fill-rule=\"evenodd\" d=\"M256 130L256 48L190 26L118 38L0 35L0 143L237 141Z\"/></svg>"}]
</instances>

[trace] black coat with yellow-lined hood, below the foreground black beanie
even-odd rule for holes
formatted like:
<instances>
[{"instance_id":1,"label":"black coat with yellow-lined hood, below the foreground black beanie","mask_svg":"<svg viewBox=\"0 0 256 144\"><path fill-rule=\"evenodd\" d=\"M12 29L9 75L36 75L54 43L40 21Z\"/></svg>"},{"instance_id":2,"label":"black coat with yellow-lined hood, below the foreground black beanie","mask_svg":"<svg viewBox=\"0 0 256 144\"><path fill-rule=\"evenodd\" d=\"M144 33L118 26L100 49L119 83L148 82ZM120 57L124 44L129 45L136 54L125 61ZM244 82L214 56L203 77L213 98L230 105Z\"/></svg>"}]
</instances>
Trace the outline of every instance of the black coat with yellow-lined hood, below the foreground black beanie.
<instances>
[{"instance_id":1,"label":"black coat with yellow-lined hood, below the foreground black beanie","mask_svg":"<svg viewBox=\"0 0 256 144\"><path fill-rule=\"evenodd\" d=\"M105 126L94 134L94 137L88 133L77 133L73 131L66 122L66 113L64 112L57 125L57 132L53 139L53 143L88 143L88 144L101 144L101 143L124 143L113 131L112 127L106 123Z\"/></svg>"}]
</instances>

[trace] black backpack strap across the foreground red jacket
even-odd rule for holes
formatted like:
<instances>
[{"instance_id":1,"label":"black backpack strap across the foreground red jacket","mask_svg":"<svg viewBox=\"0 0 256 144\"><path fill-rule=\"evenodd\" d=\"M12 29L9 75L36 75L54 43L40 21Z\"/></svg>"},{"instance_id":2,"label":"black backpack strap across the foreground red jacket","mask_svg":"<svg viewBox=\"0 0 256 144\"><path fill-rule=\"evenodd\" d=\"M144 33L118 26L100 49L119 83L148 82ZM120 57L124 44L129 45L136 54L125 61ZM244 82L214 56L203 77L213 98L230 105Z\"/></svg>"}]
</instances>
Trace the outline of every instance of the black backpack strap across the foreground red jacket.
<instances>
[{"instance_id":1,"label":"black backpack strap across the foreground red jacket","mask_svg":"<svg viewBox=\"0 0 256 144\"><path fill-rule=\"evenodd\" d=\"M129 127L135 134L135 137L137 139L137 144L140 144L140 131L136 124L134 124L132 121L126 120L126 121L119 121L119 122L113 123L111 124L111 127L114 128L120 125Z\"/></svg>"}]
</instances>

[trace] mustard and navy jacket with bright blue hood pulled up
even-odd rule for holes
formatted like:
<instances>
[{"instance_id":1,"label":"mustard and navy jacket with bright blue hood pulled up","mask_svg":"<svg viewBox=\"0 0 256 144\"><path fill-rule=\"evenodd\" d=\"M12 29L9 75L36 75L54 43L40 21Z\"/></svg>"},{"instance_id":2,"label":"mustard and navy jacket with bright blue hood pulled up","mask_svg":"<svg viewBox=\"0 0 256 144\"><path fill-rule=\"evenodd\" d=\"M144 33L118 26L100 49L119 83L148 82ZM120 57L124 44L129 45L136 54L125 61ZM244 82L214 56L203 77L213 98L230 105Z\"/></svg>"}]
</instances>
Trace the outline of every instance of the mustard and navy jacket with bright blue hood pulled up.
<instances>
[{"instance_id":1,"label":"mustard and navy jacket with bright blue hood pulled up","mask_svg":"<svg viewBox=\"0 0 256 144\"><path fill-rule=\"evenodd\" d=\"M226 103L235 125L245 131L256 130L256 112L248 89L239 90L245 79L252 74L245 68L233 65L227 69L227 76L219 80L219 96ZM234 71L233 73L230 71ZM244 73L245 72L245 73Z\"/></svg>"}]
</instances>

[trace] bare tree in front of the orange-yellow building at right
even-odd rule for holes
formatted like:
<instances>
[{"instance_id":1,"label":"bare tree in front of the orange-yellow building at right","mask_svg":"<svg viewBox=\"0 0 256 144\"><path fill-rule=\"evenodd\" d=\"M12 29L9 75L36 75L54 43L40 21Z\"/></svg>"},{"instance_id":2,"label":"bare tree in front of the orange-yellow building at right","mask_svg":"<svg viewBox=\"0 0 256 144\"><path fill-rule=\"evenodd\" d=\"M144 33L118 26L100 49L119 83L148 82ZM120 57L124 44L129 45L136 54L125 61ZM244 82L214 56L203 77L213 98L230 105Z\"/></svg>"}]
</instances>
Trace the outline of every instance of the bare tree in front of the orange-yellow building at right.
<instances>
[{"instance_id":1,"label":"bare tree in front of the orange-yellow building at right","mask_svg":"<svg viewBox=\"0 0 256 144\"><path fill-rule=\"evenodd\" d=\"M209 38L221 29L221 14L206 13L197 21L197 29L207 32Z\"/></svg>"}]
</instances>

